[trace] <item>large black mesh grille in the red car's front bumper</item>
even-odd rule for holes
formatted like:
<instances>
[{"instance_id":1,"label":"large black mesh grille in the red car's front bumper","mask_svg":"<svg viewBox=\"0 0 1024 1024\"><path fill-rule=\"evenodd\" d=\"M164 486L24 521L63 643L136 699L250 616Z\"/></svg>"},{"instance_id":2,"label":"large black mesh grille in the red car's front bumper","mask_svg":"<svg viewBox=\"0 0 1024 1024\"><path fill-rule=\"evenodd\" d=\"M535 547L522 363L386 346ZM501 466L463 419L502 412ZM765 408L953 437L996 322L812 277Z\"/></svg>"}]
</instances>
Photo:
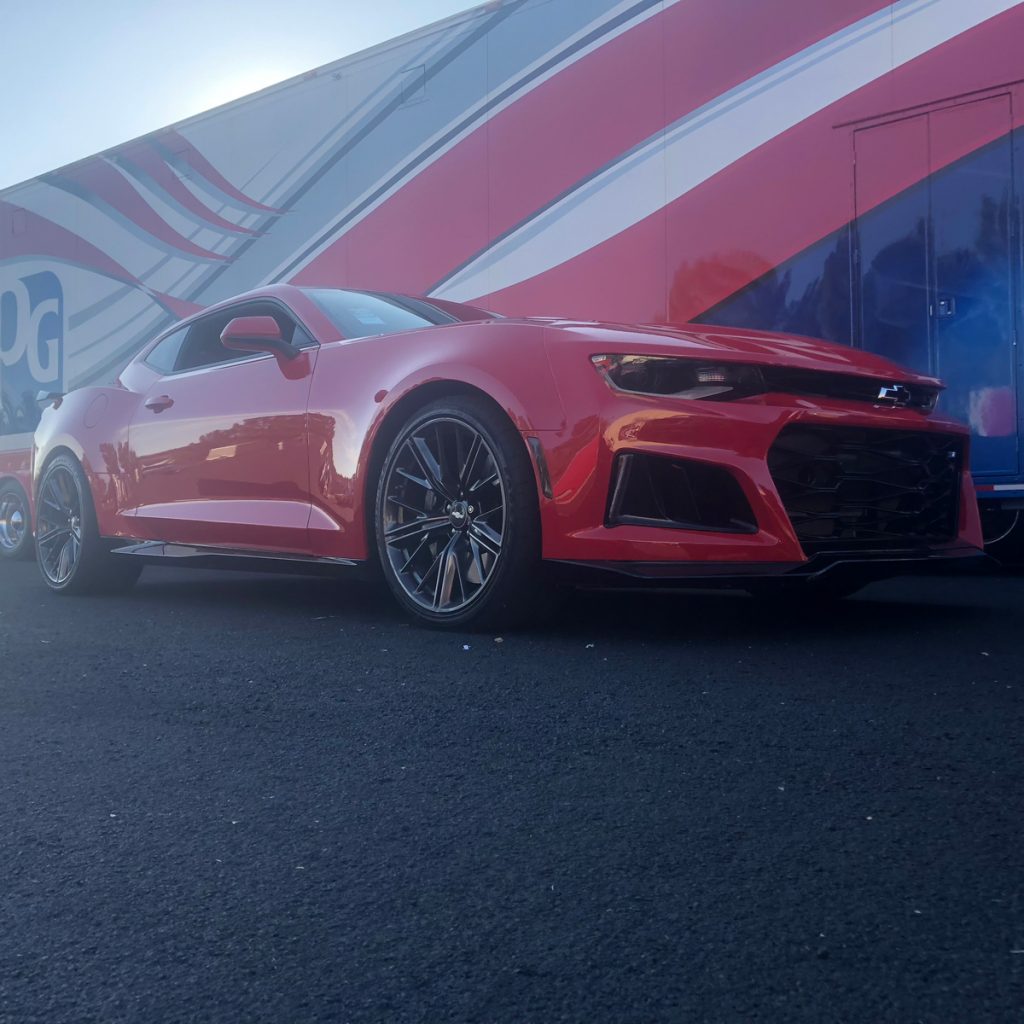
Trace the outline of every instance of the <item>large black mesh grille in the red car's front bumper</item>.
<instances>
[{"instance_id":1,"label":"large black mesh grille in the red car's front bumper","mask_svg":"<svg viewBox=\"0 0 1024 1024\"><path fill-rule=\"evenodd\" d=\"M768 468L807 554L921 548L956 536L961 438L857 427L786 427Z\"/></svg>"}]
</instances>

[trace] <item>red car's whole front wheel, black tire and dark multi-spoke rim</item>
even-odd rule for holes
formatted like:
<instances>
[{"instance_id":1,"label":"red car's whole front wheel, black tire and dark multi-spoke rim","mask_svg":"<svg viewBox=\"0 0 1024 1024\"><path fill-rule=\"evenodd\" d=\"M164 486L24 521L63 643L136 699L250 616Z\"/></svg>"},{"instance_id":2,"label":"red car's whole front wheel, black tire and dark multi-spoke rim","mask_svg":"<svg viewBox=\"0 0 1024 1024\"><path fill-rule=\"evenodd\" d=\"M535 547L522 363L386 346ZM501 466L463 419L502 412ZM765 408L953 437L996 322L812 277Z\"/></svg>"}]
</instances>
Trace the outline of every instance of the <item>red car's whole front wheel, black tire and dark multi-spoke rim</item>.
<instances>
[{"instance_id":1,"label":"red car's whole front wheel, black tire and dark multi-spoke rim","mask_svg":"<svg viewBox=\"0 0 1024 1024\"><path fill-rule=\"evenodd\" d=\"M437 399L401 428L378 481L374 526L384 579L418 622L505 629L538 609L534 468L518 431L485 399Z\"/></svg>"}]
</instances>

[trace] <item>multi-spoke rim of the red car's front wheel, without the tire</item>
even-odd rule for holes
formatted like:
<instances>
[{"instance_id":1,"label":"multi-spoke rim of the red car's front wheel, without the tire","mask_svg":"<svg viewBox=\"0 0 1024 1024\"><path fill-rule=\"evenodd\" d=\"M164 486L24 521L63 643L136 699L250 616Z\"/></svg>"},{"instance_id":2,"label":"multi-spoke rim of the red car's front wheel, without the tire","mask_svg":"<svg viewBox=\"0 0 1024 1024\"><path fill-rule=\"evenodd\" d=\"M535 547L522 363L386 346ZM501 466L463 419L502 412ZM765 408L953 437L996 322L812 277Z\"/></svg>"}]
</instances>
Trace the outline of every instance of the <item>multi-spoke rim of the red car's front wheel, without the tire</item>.
<instances>
[{"instance_id":1,"label":"multi-spoke rim of the red car's front wheel, without the tire","mask_svg":"<svg viewBox=\"0 0 1024 1024\"><path fill-rule=\"evenodd\" d=\"M503 554L506 496L495 451L461 418L421 421L389 462L379 516L393 578L409 600L434 615L463 611Z\"/></svg>"}]
</instances>

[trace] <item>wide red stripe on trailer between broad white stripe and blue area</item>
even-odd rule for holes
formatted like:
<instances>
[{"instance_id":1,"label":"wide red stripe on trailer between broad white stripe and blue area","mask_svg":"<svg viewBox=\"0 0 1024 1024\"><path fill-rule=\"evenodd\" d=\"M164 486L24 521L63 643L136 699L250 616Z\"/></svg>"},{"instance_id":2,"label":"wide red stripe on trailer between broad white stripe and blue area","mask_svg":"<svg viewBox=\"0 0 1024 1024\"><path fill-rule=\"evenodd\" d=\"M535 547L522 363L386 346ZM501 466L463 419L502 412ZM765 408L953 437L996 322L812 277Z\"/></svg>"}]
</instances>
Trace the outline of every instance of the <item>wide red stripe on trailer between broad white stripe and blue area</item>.
<instances>
[{"instance_id":1,"label":"wide red stripe on trailer between broad white stripe and blue area","mask_svg":"<svg viewBox=\"0 0 1024 1024\"><path fill-rule=\"evenodd\" d=\"M1022 35L1024 7L997 15L782 133L603 245L481 300L513 313L691 319L853 219L853 129L838 126L1012 81ZM993 122L979 119L975 131L945 141L932 170L998 134ZM920 168L895 155L891 167L888 183L871 190L874 205L921 178Z\"/></svg>"}]
</instances>

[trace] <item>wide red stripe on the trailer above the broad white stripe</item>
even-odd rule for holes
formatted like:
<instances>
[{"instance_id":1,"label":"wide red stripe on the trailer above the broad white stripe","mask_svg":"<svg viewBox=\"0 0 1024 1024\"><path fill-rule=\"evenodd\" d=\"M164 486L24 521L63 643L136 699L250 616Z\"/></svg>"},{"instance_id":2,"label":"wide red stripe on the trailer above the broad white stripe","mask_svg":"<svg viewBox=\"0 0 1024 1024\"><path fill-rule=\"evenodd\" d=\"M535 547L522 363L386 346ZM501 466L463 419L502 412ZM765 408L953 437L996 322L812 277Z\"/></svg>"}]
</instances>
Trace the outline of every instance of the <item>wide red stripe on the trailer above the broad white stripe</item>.
<instances>
[{"instance_id":1,"label":"wide red stripe on the trailer above the broad white stripe","mask_svg":"<svg viewBox=\"0 0 1024 1024\"><path fill-rule=\"evenodd\" d=\"M667 124L887 6L881 0L675 4L496 115L347 232L344 245L300 270L295 283L426 291Z\"/></svg>"}]
</instances>

